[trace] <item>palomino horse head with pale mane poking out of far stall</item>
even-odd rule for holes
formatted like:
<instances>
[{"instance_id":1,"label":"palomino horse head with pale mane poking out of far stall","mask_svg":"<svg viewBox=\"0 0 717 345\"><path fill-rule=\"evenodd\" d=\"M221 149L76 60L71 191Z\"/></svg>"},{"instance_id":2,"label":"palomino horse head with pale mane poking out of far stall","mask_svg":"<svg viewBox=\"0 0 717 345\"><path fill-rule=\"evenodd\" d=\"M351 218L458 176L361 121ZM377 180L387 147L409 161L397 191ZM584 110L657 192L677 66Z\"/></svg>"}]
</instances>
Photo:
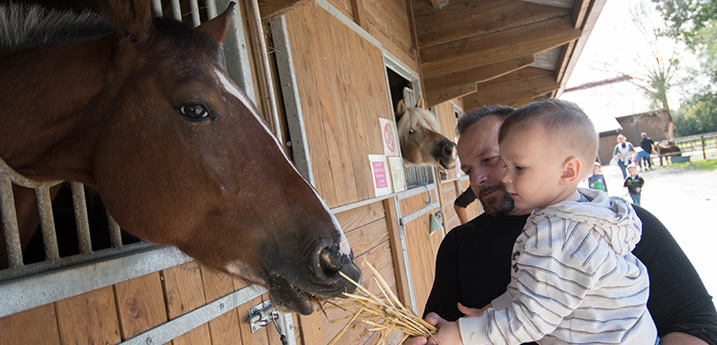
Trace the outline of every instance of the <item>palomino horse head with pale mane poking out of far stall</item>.
<instances>
[{"instance_id":1,"label":"palomino horse head with pale mane poking out of far stall","mask_svg":"<svg viewBox=\"0 0 717 345\"><path fill-rule=\"evenodd\" d=\"M435 115L420 107L406 108L401 100L398 102L396 116L396 131L404 161L416 165L440 164L446 169L455 167L456 144L438 132Z\"/></svg>"}]
</instances>

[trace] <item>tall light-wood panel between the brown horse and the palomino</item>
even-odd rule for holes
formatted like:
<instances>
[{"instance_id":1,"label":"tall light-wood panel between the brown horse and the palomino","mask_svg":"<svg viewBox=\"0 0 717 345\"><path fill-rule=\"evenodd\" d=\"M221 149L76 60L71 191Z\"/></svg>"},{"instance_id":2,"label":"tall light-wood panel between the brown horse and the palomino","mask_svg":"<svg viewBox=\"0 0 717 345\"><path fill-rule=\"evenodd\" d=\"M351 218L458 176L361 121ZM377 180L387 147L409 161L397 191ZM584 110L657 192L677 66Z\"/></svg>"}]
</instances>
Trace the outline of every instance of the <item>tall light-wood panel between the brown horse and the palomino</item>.
<instances>
[{"instance_id":1,"label":"tall light-wood panel between the brown horse and the palomino","mask_svg":"<svg viewBox=\"0 0 717 345\"><path fill-rule=\"evenodd\" d=\"M329 207L374 197L369 154L392 119L381 50L315 3L286 14L314 186Z\"/></svg>"}]
</instances>

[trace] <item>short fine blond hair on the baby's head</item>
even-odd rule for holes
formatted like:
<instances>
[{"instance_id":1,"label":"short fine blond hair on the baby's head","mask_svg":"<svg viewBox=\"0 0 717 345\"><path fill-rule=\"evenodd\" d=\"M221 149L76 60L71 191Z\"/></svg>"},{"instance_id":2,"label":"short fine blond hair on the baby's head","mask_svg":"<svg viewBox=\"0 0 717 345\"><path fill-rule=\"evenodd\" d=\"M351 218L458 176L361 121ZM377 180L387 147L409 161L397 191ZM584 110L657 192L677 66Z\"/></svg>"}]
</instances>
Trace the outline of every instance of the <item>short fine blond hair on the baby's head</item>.
<instances>
[{"instance_id":1,"label":"short fine blond hair on the baby's head","mask_svg":"<svg viewBox=\"0 0 717 345\"><path fill-rule=\"evenodd\" d=\"M516 109L503 121L498 142L503 142L513 129L539 124L548 140L566 152L574 153L582 165L580 179L592 172L592 162L597 157L598 134L590 118L575 103L557 99L541 100Z\"/></svg>"}]
</instances>

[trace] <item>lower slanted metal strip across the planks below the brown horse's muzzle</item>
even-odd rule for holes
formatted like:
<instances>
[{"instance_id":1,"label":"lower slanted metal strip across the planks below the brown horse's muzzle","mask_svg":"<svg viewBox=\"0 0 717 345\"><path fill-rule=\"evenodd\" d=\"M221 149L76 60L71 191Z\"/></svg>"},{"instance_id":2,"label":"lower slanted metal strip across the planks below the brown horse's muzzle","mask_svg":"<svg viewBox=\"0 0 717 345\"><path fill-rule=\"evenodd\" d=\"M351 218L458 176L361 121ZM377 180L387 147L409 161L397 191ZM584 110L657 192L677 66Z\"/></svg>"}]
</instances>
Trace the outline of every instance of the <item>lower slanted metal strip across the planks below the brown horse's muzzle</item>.
<instances>
[{"instance_id":1,"label":"lower slanted metal strip across the planks below the brown horse's muzzle","mask_svg":"<svg viewBox=\"0 0 717 345\"><path fill-rule=\"evenodd\" d=\"M176 319L163 323L144 333L138 334L120 345L164 344L181 336L222 314L261 296L266 290L252 285L232 292L202 307L194 309Z\"/></svg>"}]
</instances>

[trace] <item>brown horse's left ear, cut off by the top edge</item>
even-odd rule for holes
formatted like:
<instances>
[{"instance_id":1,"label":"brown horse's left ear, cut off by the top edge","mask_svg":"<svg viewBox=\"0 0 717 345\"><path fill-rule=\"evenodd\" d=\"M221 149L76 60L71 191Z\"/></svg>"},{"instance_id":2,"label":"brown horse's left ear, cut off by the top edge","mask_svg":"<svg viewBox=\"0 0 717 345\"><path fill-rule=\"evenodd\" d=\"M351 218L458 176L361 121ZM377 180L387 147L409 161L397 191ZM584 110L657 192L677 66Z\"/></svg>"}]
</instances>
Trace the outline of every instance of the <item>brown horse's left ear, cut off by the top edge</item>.
<instances>
[{"instance_id":1,"label":"brown horse's left ear, cut off by the top edge","mask_svg":"<svg viewBox=\"0 0 717 345\"><path fill-rule=\"evenodd\" d=\"M107 0L104 7L105 15L120 35L133 42L147 38L152 27L150 0Z\"/></svg>"}]
</instances>

